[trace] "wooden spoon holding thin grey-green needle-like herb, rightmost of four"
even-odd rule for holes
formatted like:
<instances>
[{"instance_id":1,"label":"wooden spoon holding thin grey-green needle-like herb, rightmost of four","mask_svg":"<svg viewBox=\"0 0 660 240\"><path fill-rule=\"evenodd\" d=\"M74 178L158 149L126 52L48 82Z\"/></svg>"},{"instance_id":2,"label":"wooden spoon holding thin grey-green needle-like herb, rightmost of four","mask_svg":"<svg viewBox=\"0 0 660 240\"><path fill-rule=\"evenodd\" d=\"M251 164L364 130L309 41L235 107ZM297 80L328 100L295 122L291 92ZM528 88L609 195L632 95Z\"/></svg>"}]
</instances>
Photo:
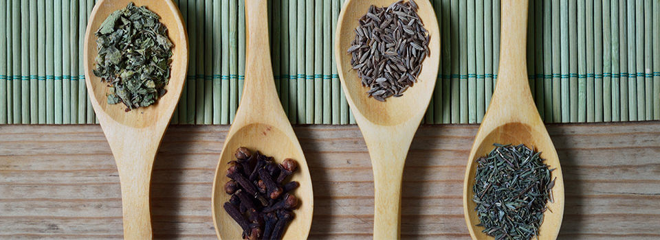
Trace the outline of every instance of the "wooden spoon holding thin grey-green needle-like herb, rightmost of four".
<instances>
[{"instance_id":1,"label":"wooden spoon holding thin grey-green needle-like herb, rightmost of four","mask_svg":"<svg viewBox=\"0 0 660 240\"><path fill-rule=\"evenodd\" d=\"M523 143L542 152L541 158L545 159L550 169L555 169L551 178L557 180L552 189L554 202L547 204L549 211L544 214L543 223L539 228L539 239L556 239L562 225L564 213L562 168L559 165L557 151L534 105L527 80L525 56L527 7L527 0L502 1L500 34L502 47L497 87L474 139L463 185L463 211L472 239L492 239L481 232L483 228L475 227L479 219L474 211L476 204L472 201L474 196L472 186L478 166L476 158L487 155L494 148L493 143L514 145Z\"/></svg>"}]
</instances>

